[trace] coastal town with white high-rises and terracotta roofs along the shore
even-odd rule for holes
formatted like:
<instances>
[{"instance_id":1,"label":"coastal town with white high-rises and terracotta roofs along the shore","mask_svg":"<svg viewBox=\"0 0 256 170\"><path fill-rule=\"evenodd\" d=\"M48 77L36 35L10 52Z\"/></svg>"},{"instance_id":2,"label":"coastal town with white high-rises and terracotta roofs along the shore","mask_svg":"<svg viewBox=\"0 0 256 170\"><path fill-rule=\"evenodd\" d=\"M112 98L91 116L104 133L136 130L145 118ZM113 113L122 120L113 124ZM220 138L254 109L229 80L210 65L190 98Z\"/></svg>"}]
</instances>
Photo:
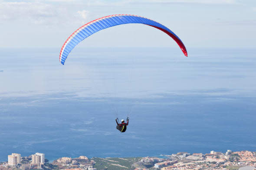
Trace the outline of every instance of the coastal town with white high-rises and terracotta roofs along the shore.
<instances>
[{"instance_id":1,"label":"coastal town with white high-rises and terracotta roofs along the shore","mask_svg":"<svg viewBox=\"0 0 256 170\"><path fill-rule=\"evenodd\" d=\"M8 155L8 161L0 163L0 170L256 170L256 152L178 152L132 158L61 157L51 163L42 153L27 157L13 153Z\"/></svg>"}]
</instances>

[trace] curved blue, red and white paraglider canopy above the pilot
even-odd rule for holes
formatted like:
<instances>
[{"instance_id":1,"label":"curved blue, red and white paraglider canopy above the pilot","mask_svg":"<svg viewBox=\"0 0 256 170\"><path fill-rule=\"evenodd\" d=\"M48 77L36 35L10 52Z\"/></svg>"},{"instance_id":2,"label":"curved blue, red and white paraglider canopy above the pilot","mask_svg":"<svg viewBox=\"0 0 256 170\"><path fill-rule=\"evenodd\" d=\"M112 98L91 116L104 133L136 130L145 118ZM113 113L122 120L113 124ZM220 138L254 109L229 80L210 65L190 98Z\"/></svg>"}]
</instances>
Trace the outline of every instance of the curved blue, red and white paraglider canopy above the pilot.
<instances>
[{"instance_id":1,"label":"curved blue, red and white paraglider canopy above the pilot","mask_svg":"<svg viewBox=\"0 0 256 170\"><path fill-rule=\"evenodd\" d=\"M185 56L187 56L186 47L181 41L181 39L176 34L174 34L174 32L168 29L166 26L163 26L162 24L154 20L151 20L142 16L121 14L121 15L104 16L102 18L95 19L81 26L79 29L73 32L69 36L69 38L66 40L66 42L62 45L62 48L59 54L60 63L64 65L66 58L68 57L72 49L75 48L75 46L78 45L79 42L82 42L82 40L94 34L95 32L98 32L102 29L106 29L112 26L117 26L121 24L130 24L130 23L140 23L140 24L152 26L154 28L157 28L165 32L167 35L173 38L175 42L177 42L177 44L181 48L181 51L184 53Z\"/></svg>"}]
</instances>

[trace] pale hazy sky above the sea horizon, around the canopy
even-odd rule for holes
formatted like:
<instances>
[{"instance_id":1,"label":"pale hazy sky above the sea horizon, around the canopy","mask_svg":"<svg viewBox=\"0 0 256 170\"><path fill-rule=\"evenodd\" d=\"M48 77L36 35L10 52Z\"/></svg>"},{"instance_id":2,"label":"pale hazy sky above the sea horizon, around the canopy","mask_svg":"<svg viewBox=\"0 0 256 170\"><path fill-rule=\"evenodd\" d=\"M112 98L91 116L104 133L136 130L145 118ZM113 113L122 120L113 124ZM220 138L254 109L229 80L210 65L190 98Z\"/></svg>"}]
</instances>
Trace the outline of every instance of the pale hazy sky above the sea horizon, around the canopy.
<instances>
[{"instance_id":1,"label":"pale hazy sky above the sea horizon, around the canopy","mask_svg":"<svg viewBox=\"0 0 256 170\"><path fill-rule=\"evenodd\" d=\"M0 0L0 48L61 48L86 22L112 14L154 19L188 51L256 44L255 0ZM142 24L102 30L79 46L177 47L165 33Z\"/></svg>"}]
</instances>

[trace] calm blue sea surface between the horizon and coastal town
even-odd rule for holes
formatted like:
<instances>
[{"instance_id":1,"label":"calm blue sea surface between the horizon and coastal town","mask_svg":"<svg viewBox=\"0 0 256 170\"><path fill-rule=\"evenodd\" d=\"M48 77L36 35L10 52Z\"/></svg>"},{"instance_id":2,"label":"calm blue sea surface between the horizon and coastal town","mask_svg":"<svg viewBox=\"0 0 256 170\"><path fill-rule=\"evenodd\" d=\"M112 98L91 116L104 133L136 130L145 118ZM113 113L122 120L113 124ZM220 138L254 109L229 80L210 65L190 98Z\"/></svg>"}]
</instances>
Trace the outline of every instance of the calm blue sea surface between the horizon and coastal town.
<instances>
[{"instance_id":1,"label":"calm blue sea surface between the horizon and coastal town","mask_svg":"<svg viewBox=\"0 0 256 170\"><path fill-rule=\"evenodd\" d=\"M0 161L256 151L255 134L255 49L1 49Z\"/></svg>"}]
</instances>

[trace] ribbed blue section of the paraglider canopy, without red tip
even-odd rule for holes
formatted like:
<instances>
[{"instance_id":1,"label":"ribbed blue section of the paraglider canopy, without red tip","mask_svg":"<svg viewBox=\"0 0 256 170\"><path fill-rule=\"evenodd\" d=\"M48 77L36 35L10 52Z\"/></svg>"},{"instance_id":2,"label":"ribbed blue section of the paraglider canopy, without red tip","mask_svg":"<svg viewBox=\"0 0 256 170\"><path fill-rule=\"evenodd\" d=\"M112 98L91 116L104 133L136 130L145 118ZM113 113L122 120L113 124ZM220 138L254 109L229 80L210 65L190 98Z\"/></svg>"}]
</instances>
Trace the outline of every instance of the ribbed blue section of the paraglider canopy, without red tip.
<instances>
[{"instance_id":1,"label":"ribbed blue section of the paraglider canopy, without red tip","mask_svg":"<svg viewBox=\"0 0 256 170\"><path fill-rule=\"evenodd\" d=\"M156 26L158 28L168 31L169 33L174 35L179 41L181 41L181 39L177 35L175 35L174 32L172 32L167 27L165 27L165 26L161 25L160 23L155 22L153 20L150 20L150 19L147 19L144 17L140 17L140 16L131 16L131 15L109 16L106 18L99 19L98 21L96 20L96 22L89 24L88 26L85 26L83 29L78 31L77 34L69 40L66 47L64 49L62 49L63 52L62 52L62 55L60 56L61 63L64 65L64 62L65 62L67 56L69 55L69 53L72 51L72 49L76 45L78 45L79 42L81 42L85 38L89 37L90 35L94 34L95 32L98 32L102 29L106 29L106 28L109 28L112 26L117 26L117 25L121 25L121 24L129 24L129 23L141 23L141 24L146 24L149 26Z\"/></svg>"}]
</instances>

